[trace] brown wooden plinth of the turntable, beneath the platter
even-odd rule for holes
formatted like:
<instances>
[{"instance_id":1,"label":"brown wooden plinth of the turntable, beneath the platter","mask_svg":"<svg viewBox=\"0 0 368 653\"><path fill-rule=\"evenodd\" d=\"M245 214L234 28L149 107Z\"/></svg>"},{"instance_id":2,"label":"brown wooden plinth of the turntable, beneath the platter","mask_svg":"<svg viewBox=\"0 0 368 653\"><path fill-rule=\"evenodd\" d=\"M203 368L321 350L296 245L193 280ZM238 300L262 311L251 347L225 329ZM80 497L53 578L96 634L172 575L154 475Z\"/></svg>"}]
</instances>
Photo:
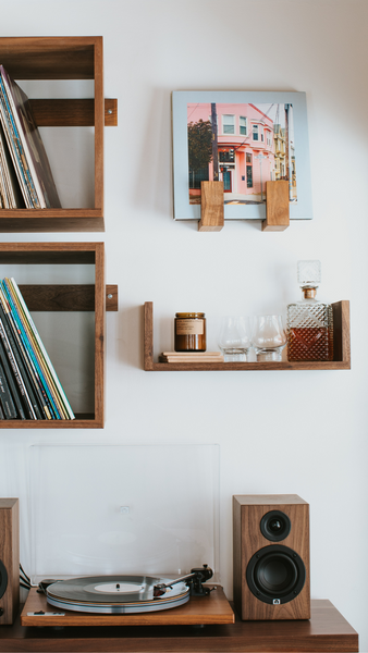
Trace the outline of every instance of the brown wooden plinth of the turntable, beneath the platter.
<instances>
[{"instance_id":1,"label":"brown wooden plinth of the turntable, beneath the platter","mask_svg":"<svg viewBox=\"0 0 368 653\"><path fill-rule=\"evenodd\" d=\"M197 626L234 624L233 609L220 586L208 596L191 596L188 603L151 613L99 615L62 611L47 603L45 594L29 591L21 614L22 626ZM32 613L32 614L29 614ZM35 614L40 613L40 614ZM44 613L44 614L42 614ZM45 614L46 613L46 614ZM47 613L62 613L62 616Z\"/></svg>"}]
</instances>

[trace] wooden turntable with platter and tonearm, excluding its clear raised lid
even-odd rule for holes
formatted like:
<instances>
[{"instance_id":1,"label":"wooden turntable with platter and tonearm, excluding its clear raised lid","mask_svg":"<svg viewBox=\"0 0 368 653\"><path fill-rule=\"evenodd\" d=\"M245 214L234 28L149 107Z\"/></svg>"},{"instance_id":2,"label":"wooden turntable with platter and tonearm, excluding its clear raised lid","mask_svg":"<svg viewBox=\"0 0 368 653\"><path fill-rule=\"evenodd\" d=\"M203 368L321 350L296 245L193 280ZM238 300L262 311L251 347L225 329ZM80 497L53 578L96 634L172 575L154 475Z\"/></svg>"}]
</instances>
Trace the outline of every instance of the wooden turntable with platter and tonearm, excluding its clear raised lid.
<instances>
[{"instance_id":1,"label":"wooden turntable with platter and tonearm, excluding its clear raised lid","mask_svg":"<svg viewBox=\"0 0 368 653\"><path fill-rule=\"evenodd\" d=\"M204 565L176 578L96 576L45 580L32 588L22 626L132 626L233 624L222 588L204 583ZM57 609L54 609L57 608Z\"/></svg>"}]
</instances>

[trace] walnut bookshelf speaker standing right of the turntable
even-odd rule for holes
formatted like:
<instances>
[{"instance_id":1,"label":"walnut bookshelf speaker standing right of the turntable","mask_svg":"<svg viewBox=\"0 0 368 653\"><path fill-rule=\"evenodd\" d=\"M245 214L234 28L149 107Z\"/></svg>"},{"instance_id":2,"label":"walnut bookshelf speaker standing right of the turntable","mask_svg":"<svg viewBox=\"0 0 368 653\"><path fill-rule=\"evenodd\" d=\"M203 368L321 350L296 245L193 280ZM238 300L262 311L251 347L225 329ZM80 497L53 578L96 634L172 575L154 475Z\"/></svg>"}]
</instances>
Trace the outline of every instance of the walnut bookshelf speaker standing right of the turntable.
<instances>
[{"instance_id":1,"label":"walnut bookshelf speaker standing right of the turntable","mask_svg":"<svg viewBox=\"0 0 368 653\"><path fill-rule=\"evenodd\" d=\"M309 619L309 505L233 496L234 604L243 620Z\"/></svg>"}]
</instances>

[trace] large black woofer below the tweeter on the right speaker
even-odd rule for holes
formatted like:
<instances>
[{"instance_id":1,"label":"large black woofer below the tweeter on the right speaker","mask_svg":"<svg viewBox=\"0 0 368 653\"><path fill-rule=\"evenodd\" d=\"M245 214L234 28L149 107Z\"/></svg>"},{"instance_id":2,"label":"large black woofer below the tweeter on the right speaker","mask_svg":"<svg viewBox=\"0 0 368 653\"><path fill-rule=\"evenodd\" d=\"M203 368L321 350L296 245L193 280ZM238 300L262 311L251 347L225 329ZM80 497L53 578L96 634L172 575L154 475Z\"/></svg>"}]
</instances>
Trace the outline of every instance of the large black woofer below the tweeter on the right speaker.
<instances>
[{"instance_id":1,"label":"large black woofer below the tweeter on the right speaker","mask_svg":"<svg viewBox=\"0 0 368 653\"><path fill-rule=\"evenodd\" d=\"M305 579L300 556L292 549L277 544L257 551L246 570L249 590L263 603L289 603L299 594Z\"/></svg>"}]
</instances>

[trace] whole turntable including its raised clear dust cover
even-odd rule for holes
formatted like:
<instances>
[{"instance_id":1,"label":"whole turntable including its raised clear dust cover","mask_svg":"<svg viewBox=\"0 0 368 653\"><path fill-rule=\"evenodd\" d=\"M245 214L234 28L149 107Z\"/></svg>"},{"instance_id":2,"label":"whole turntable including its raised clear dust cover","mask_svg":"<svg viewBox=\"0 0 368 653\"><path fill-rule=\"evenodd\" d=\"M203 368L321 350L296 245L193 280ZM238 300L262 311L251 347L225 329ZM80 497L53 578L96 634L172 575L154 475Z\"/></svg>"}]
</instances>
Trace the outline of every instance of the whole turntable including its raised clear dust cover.
<instances>
[{"instance_id":1,"label":"whole turntable including its raised clear dust cover","mask_svg":"<svg viewBox=\"0 0 368 653\"><path fill-rule=\"evenodd\" d=\"M233 623L200 566L219 568L217 445L33 445L30 457L23 626ZM63 580L39 593L45 578Z\"/></svg>"}]
</instances>

